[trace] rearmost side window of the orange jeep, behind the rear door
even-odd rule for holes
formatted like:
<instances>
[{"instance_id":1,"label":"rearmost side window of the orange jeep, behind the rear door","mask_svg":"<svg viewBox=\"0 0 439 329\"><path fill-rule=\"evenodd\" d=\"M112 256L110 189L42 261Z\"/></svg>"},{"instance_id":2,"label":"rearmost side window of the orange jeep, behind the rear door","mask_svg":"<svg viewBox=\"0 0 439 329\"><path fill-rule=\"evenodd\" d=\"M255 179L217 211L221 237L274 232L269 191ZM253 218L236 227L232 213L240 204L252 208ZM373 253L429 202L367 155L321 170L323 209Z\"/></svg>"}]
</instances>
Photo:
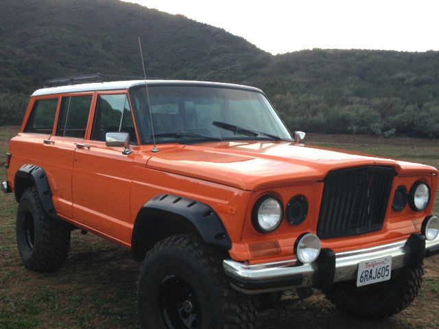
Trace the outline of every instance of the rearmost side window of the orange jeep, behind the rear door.
<instances>
[{"instance_id":1,"label":"rearmost side window of the orange jeep, behind the rear door","mask_svg":"<svg viewBox=\"0 0 439 329\"><path fill-rule=\"evenodd\" d=\"M58 98L36 101L24 131L51 135L54 129L56 106L58 106Z\"/></svg>"}]
</instances>

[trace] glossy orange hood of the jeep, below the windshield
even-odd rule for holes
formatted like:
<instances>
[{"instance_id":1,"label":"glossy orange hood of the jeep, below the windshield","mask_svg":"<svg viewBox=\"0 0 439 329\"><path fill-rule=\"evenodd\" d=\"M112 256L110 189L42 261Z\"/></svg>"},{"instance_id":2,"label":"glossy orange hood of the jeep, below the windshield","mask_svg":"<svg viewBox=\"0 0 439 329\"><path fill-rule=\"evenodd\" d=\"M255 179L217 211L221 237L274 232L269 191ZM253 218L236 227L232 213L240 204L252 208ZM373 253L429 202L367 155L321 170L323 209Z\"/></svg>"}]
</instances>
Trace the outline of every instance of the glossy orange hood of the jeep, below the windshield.
<instances>
[{"instance_id":1,"label":"glossy orange hood of the jeep, below the windshield","mask_svg":"<svg viewBox=\"0 0 439 329\"><path fill-rule=\"evenodd\" d=\"M147 167L254 191L290 182L323 180L329 171L379 165L397 173L438 173L434 167L289 142L232 142L163 149Z\"/></svg>"}]
</instances>

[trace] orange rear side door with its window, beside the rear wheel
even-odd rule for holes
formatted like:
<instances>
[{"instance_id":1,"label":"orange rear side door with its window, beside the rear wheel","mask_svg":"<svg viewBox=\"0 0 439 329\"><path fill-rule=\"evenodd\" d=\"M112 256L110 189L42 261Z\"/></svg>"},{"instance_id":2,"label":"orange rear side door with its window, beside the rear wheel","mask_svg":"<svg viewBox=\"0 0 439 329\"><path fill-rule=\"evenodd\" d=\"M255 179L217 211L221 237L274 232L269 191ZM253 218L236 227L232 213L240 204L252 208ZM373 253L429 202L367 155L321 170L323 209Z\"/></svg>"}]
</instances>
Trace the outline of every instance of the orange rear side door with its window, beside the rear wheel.
<instances>
[{"instance_id":1,"label":"orange rear side door with its window, beside the rear wheel","mask_svg":"<svg viewBox=\"0 0 439 329\"><path fill-rule=\"evenodd\" d=\"M55 134L43 142L42 167L47 173L56 211L73 217L71 178L78 141L85 136L91 94L61 97Z\"/></svg>"}]
</instances>

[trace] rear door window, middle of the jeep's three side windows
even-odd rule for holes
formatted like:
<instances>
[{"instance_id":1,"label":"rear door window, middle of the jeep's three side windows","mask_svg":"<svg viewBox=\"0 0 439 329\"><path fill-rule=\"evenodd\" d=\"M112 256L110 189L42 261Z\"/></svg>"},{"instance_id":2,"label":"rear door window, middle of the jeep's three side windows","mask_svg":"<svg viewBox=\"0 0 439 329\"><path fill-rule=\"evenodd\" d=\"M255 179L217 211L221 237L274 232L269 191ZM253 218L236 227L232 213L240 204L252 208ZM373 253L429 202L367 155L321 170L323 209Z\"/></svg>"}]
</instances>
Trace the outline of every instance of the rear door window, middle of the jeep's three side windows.
<instances>
[{"instance_id":1,"label":"rear door window, middle of the jeep's three side windows","mask_svg":"<svg viewBox=\"0 0 439 329\"><path fill-rule=\"evenodd\" d=\"M62 97L56 136L84 138L91 95Z\"/></svg>"}]
</instances>

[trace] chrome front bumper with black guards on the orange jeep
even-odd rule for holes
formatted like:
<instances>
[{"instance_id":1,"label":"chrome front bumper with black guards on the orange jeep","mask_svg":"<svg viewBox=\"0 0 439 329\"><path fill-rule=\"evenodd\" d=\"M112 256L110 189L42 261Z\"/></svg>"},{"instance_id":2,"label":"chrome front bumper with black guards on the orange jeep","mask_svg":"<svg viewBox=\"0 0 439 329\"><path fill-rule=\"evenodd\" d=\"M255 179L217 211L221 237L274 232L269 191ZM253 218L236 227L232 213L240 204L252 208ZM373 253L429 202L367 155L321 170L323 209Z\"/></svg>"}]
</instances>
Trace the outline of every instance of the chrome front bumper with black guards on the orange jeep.
<instances>
[{"instance_id":1,"label":"chrome front bumper with black guards on the orange jeep","mask_svg":"<svg viewBox=\"0 0 439 329\"><path fill-rule=\"evenodd\" d=\"M426 241L420 234L410 239L350 252L334 253L323 249L318 260L296 265L296 260L246 265L224 260L223 267L230 284L243 293L264 293L301 287L327 288L335 282L355 280L358 264L366 260L392 256L392 270L417 267L425 256L439 252L439 237Z\"/></svg>"}]
</instances>

